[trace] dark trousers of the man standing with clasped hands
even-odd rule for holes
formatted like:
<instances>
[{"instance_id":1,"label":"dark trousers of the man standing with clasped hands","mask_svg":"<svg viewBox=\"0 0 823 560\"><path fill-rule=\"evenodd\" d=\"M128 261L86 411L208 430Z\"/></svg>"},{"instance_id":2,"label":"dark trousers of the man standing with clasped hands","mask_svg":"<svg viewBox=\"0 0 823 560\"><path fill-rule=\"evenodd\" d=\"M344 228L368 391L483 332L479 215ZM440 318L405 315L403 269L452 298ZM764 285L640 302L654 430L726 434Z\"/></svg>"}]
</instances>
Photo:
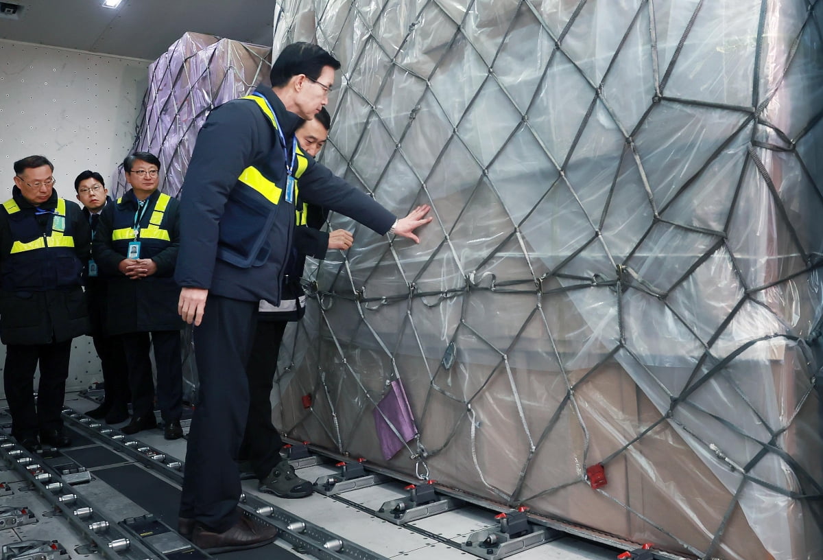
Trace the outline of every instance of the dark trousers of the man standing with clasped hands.
<instances>
[{"instance_id":1,"label":"dark trousers of the man standing with clasped hands","mask_svg":"<svg viewBox=\"0 0 823 560\"><path fill-rule=\"evenodd\" d=\"M150 340L151 334L151 340ZM154 413L155 388L151 376L149 348L154 345L157 366L157 405L166 422L183 414L183 361L179 330L122 334L123 352L128 361L128 388L132 391L133 416Z\"/></svg>"}]
</instances>

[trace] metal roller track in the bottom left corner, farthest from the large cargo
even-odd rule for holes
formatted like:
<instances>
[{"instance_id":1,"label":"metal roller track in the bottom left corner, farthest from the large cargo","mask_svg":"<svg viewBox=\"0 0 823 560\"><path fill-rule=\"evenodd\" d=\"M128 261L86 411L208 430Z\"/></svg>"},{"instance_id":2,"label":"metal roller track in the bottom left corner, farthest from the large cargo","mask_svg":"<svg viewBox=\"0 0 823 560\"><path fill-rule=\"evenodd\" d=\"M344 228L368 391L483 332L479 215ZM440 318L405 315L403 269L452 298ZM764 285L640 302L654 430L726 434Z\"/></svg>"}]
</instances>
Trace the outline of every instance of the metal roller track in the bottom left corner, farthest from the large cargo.
<instances>
[{"instance_id":1,"label":"metal roller track in the bottom left corner, farthest from the large cargo","mask_svg":"<svg viewBox=\"0 0 823 560\"><path fill-rule=\"evenodd\" d=\"M0 458L63 514L72 528L95 544L108 560L151 560L153 553L128 539L116 523L95 512L94 504L74 493L58 472L10 437L0 437Z\"/></svg>"}]
</instances>

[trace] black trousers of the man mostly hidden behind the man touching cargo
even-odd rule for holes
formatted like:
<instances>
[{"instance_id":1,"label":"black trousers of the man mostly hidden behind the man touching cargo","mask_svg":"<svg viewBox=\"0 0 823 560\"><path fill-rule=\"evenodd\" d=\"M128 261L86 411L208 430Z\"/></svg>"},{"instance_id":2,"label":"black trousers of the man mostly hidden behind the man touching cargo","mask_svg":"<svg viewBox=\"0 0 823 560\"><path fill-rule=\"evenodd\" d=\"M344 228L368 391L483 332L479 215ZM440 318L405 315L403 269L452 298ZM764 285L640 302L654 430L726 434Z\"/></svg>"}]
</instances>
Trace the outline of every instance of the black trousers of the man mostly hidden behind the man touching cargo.
<instances>
[{"instance_id":1,"label":"black trousers of the man mostly hidden behind the man touching cargo","mask_svg":"<svg viewBox=\"0 0 823 560\"><path fill-rule=\"evenodd\" d=\"M281 461L283 440L272 424L272 386L277 354L288 321L258 320L246 376L249 380L249 417L239 459L251 461L254 474L263 479Z\"/></svg>"}]
</instances>

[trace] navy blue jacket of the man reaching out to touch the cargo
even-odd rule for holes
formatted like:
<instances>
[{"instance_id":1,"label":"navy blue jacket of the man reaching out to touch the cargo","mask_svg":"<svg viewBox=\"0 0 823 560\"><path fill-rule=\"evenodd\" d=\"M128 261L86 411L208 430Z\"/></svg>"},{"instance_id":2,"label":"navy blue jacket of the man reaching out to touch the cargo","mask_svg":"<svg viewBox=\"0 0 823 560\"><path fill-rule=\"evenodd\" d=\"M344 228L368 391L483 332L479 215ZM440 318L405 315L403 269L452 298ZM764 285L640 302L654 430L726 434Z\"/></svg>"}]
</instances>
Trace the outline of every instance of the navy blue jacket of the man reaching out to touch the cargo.
<instances>
[{"instance_id":1,"label":"navy blue jacket of the man reaching out to touch the cargo","mask_svg":"<svg viewBox=\"0 0 823 560\"><path fill-rule=\"evenodd\" d=\"M286 110L271 88L258 87L280 123L286 145L300 117ZM291 160L291 153L288 154ZM395 217L367 194L333 175L308 157L309 164L298 182L300 198L355 219L383 235ZM238 178L249 166L277 170L274 183L286 185L286 154L277 132L263 111L250 100L232 100L209 114L198 134L180 198L180 252L174 279L182 287L207 288L210 293L241 301L280 303L283 268L291 248L295 206L281 195L272 208L242 208L235 191L244 189ZM244 231L249 246L265 236L265 247L249 266L230 264L221 258L221 238L227 231L234 239L249 230L249 214L277 212L272 226ZM257 258L258 255L252 255Z\"/></svg>"}]
</instances>

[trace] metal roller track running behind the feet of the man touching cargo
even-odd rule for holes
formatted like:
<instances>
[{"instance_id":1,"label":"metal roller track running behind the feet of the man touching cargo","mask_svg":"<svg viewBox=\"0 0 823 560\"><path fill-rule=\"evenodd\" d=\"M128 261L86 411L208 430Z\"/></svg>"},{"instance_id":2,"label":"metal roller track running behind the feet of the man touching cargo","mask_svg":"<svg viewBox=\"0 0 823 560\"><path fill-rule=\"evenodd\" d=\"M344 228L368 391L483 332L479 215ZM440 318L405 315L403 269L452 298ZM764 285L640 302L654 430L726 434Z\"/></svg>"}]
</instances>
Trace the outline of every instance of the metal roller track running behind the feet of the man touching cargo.
<instances>
[{"instance_id":1,"label":"metal roller track running behind the feet of the man touching cargo","mask_svg":"<svg viewBox=\"0 0 823 560\"><path fill-rule=\"evenodd\" d=\"M163 451L146 446L142 441L126 436L119 430L105 426L71 408L63 408L63 419L68 425L90 436L93 440L128 455L138 463L151 467L157 474L174 483L183 483L183 462L181 460L169 457ZM258 497L244 494L240 497L240 506L258 521L277 527L281 538L286 542L302 548L305 553L320 560L388 560L384 556L343 539L319 525L314 525Z\"/></svg>"}]
</instances>

